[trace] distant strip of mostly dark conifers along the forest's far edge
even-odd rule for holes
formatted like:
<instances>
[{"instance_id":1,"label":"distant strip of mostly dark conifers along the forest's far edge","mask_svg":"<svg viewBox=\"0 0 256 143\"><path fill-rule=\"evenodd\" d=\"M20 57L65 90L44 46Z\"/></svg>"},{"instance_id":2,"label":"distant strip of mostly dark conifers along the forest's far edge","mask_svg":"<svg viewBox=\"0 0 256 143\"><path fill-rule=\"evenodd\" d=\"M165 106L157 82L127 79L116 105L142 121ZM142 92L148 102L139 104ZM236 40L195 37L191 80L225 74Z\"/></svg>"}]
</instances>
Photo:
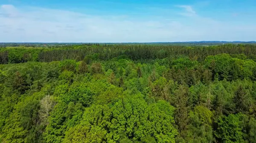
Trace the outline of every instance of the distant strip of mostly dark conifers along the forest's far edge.
<instances>
[{"instance_id":1,"label":"distant strip of mostly dark conifers along the forest's far edge","mask_svg":"<svg viewBox=\"0 0 256 143\"><path fill-rule=\"evenodd\" d=\"M58 48L1 48L0 64L62 61L76 59L81 61L91 55L94 59L108 60L122 57L131 60L163 59L188 56L198 62L209 55L220 53L244 54L247 58L256 60L256 45L218 45L218 46L174 46L174 45L73 45Z\"/></svg>"}]
</instances>

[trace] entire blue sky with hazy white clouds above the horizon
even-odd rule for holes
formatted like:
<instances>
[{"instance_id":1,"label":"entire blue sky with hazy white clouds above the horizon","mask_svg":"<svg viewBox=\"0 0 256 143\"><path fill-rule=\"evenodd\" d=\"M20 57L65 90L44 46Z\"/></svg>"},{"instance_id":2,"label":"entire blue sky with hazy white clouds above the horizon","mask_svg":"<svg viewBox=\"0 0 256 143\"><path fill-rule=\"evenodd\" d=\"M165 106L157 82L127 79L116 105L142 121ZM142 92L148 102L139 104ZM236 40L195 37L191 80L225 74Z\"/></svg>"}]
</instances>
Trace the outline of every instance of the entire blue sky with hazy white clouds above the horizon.
<instances>
[{"instance_id":1,"label":"entire blue sky with hazy white clouds above the horizon","mask_svg":"<svg viewBox=\"0 0 256 143\"><path fill-rule=\"evenodd\" d=\"M256 41L256 0L0 0L0 42Z\"/></svg>"}]
</instances>

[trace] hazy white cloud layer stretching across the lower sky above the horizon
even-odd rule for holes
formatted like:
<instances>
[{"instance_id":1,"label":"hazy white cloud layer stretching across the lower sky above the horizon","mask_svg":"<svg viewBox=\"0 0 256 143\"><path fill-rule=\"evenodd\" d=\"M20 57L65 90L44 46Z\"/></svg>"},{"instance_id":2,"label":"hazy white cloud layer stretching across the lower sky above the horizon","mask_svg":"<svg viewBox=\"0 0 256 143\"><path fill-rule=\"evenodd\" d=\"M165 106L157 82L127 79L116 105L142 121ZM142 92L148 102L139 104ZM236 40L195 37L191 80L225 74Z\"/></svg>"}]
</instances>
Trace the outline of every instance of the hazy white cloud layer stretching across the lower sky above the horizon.
<instances>
[{"instance_id":1,"label":"hazy white cloud layer stretching across the lower sky above the horizon","mask_svg":"<svg viewBox=\"0 0 256 143\"><path fill-rule=\"evenodd\" d=\"M191 6L186 14L196 14ZM56 9L0 6L0 42L172 42L199 40L253 40L253 25L193 19L129 20L129 15L93 16ZM170 19L170 20L168 20ZM244 28L252 30L243 32ZM253 29L254 28L254 29ZM238 34L246 34L240 36ZM235 39L236 38L236 39ZM246 39L247 38L247 39Z\"/></svg>"}]
</instances>

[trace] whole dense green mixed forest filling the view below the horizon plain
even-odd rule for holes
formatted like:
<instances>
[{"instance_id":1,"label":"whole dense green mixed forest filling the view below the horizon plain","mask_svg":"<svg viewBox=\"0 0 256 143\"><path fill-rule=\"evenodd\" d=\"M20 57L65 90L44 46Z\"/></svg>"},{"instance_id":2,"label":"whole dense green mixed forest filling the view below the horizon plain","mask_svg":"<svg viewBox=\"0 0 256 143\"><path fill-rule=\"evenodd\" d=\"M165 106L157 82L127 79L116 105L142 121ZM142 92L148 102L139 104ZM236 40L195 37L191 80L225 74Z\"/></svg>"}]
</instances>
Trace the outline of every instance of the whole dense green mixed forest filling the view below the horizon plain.
<instances>
[{"instance_id":1,"label":"whole dense green mixed forest filling the view below the horizon plain","mask_svg":"<svg viewBox=\"0 0 256 143\"><path fill-rule=\"evenodd\" d=\"M256 143L256 45L0 48L2 143Z\"/></svg>"}]
</instances>

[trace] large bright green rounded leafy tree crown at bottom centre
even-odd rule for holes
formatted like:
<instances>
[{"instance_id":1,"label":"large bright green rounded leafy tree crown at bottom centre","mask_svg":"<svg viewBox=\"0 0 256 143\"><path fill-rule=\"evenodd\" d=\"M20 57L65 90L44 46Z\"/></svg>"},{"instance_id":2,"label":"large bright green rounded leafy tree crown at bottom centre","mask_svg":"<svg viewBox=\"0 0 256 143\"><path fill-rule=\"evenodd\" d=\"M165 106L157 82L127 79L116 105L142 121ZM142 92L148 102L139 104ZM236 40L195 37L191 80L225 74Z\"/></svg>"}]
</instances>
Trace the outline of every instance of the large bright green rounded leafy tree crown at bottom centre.
<instances>
[{"instance_id":1,"label":"large bright green rounded leafy tree crown at bottom centre","mask_svg":"<svg viewBox=\"0 0 256 143\"><path fill-rule=\"evenodd\" d=\"M152 135L150 140L157 140L158 143L174 143L177 135L174 108L166 101L147 105L137 99L125 98L124 101L117 101L112 108L93 105L84 112L80 125L67 131L66 142L74 142L77 135L81 139L79 142L85 143L146 140L146 136ZM120 138L122 133L127 137Z\"/></svg>"}]
</instances>

